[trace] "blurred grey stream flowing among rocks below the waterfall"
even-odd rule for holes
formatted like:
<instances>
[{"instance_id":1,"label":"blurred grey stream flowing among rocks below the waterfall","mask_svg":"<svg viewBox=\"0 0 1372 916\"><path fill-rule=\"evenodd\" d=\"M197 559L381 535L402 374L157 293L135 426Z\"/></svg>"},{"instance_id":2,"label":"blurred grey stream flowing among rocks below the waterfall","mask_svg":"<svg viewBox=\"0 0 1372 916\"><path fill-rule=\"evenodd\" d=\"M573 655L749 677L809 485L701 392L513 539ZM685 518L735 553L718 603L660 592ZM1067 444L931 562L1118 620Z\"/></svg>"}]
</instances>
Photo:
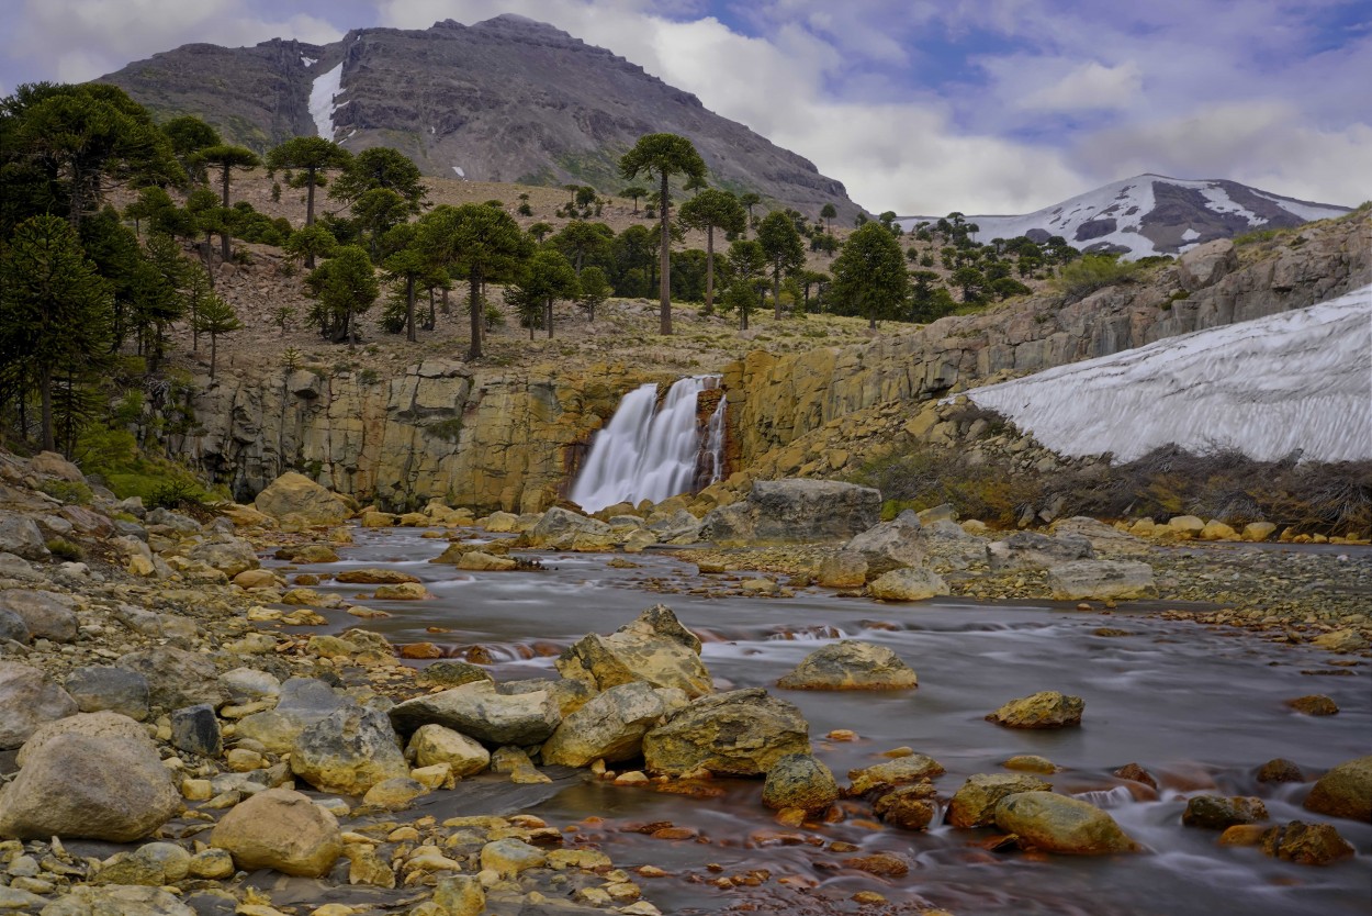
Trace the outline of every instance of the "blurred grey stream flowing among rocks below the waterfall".
<instances>
[{"instance_id":1,"label":"blurred grey stream flowing among rocks below the waterfall","mask_svg":"<svg viewBox=\"0 0 1372 916\"><path fill-rule=\"evenodd\" d=\"M702 656L719 688L768 687L804 711L815 754L840 784L848 769L881 762L882 751L908 746L947 768L936 780L947 801L967 776L1007 772L1000 766L1006 758L1040 754L1063 768L1047 777L1056 791L1106 808L1148 850L1104 858L996 853L982 847L991 829L885 828L856 803L842 823L788 829L761 806L760 780L718 780L718 797L690 798L615 787L578 773L560 780L561 788L531 809L556 825L578 824L579 835L597 840L617 867L652 864L670 872L641 880L646 897L665 913L735 906L858 912L849 898L860 890L881 893L893 908L868 912L937 905L958 916L1368 912L1369 824L1331 820L1358 856L1312 868L1268 858L1258 849L1220 847L1217 832L1180 823L1185 799L1195 794L1258 795L1273 823L1328 820L1301 808L1309 783L1262 784L1255 770L1284 757L1313 776L1368 754L1372 692L1365 662L1347 666L1349 656L1169 622L1147 615L1147 608L1098 614L1051 602L960 599L881 604L818 588L801 589L793 599L712 599L686 593L702 577L664 553L635 556L637 569L612 569L605 555L535 553L547 567L543 571L462 573L429 564L446 542L424 540L417 530L355 534L358 542L342 563L300 569L329 575L362 566L397 567L418 575L435 599L373 602L359 597L366 586L327 582L321 588L392 614L359 622L329 611L333 630L361 625L398 644L434 641L453 656L480 647L494 662L491 673L504 681L556 676L553 654L587 632L612 632L663 602L702 637ZM1372 552L1354 562L1372 562ZM774 687L809 651L840 637L892 648L915 669L919 687L836 694ZM1040 689L1083 696L1081 728L1021 732L984 721L1006 700ZM1284 705L1308 694L1334 698L1339 714L1298 715ZM829 740L831 729L852 729L859 740ZM1129 762L1152 773L1159 792L1111 775ZM440 817L461 813L432 810ZM653 821L689 827L700 836L663 840L632 832ZM836 851L836 842L860 851ZM910 872L888 879L842 865L849 854L875 851L906 857ZM756 889L707 883L749 869L767 869L770 878ZM793 883L812 887L801 893ZM816 908L816 898L827 901L823 908Z\"/></svg>"}]
</instances>

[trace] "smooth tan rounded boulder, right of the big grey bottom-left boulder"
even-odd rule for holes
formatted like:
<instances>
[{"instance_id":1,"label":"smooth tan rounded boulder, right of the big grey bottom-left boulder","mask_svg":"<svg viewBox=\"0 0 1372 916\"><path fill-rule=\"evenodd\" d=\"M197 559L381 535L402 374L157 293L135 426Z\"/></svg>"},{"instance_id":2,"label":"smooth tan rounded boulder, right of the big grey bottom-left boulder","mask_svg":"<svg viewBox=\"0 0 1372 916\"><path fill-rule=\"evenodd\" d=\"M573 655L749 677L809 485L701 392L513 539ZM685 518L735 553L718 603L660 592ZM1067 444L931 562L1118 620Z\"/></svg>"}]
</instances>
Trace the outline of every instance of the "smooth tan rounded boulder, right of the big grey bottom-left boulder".
<instances>
[{"instance_id":1,"label":"smooth tan rounded boulder, right of the big grey bottom-left boulder","mask_svg":"<svg viewBox=\"0 0 1372 916\"><path fill-rule=\"evenodd\" d=\"M210 834L210 846L226 850L243 871L274 868L321 878L343 854L343 834L333 814L309 797L269 788L225 814Z\"/></svg>"}]
</instances>

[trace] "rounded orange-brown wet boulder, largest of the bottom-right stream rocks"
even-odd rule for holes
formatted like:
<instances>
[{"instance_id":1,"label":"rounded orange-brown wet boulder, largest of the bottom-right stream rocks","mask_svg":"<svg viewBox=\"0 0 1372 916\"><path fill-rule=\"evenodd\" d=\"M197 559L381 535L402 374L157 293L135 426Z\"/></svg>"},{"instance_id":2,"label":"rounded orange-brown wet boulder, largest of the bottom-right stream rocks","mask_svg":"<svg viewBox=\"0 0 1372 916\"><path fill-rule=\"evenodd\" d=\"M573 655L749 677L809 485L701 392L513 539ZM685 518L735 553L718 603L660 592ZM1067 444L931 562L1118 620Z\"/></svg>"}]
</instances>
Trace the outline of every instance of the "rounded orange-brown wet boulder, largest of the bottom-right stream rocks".
<instances>
[{"instance_id":1,"label":"rounded orange-brown wet boulder, largest of the bottom-right stream rocks","mask_svg":"<svg viewBox=\"0 0 1372 916\"><path fill-rule=\"evenodd\" d=\"M1136 851L1139 845L1095 805L1054 792L1015 792L996 805L996 827L1021 846L1067 856Z\"/></svg>"}]
</instances>

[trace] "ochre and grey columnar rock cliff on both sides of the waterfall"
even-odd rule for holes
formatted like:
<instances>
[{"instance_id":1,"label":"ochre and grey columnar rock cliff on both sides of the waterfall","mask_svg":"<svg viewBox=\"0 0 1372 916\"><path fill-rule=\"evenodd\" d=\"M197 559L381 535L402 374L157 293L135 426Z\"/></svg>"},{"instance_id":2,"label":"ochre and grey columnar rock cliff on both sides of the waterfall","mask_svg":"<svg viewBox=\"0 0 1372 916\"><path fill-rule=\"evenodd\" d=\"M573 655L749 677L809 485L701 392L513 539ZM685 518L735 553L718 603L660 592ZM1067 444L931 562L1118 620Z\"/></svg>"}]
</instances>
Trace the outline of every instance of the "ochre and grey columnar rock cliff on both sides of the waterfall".
<instances>
[{"instance_id":1,"label":"ochre and grey columnar rock cliff on both sides of the waterfall","mask_svg":"<svg viewBox=\"0 0 1372 916\"><path fill-rule=\"evenodd\" d=\"M1151 283L1107 287L1067 306L1036 297L859 346L753 352L723 372L726 467L745 474L709 496L734 499L759 474L840 472L844 424L874 411L882 428L918 427L923 402L974 383L1303 308L1372 282L1372 218L1318 224L1295 238L1298 244L1244 249L1242 257L1218 240ZM565 494L586 444L626 391L671 380L626 367L516 374L440 360L380 382L283 369L204 391L195 404L203 433L189 449L240 499L296 468L390 507L442 497L536 511ZM803 437L825 427L837 433L825 437L823 456L809 455Z\"/></svg>"}]
</instances>

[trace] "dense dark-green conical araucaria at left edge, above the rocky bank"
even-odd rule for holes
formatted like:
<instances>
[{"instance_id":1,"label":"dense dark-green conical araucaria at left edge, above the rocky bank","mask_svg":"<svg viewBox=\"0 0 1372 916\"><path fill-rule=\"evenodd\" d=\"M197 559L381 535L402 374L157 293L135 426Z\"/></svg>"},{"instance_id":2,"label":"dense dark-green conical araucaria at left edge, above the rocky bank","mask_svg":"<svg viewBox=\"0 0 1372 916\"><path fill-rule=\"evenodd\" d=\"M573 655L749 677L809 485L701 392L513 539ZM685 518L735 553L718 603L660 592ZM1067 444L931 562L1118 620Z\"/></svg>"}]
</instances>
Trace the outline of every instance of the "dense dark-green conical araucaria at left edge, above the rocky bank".
<instances>
[{"instance_id":1,"label":"dense dark-green conical araucaria at left edge, above the rocky bank","mask_svg":"<svg viewBox=\"0 0 1372 916\"><path fill-rule=\"evenodd\" d=\"M58 379L64 375L74 389L73 376L99 372L110 349L111 309L110 286L71 225L37 216L15 229L0 261L0 386L19 398L38 389L40 437L49 452L56 449Z\"/></svg>"}]
</instances>

